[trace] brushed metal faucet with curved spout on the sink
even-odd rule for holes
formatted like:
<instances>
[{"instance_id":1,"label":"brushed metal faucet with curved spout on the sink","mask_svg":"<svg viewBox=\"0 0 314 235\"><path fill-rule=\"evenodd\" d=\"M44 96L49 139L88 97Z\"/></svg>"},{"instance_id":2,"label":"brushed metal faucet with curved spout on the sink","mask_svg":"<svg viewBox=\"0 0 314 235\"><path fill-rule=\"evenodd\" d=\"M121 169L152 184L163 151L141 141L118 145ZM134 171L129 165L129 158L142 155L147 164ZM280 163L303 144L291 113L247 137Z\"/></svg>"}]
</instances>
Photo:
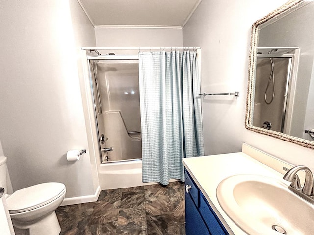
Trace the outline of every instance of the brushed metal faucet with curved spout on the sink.
<instances>
[{"instance_id":1,"label":"brushed metal faucet with curved spout on the sink","mask_svg":"<svg viewBox=\"0 0 314 235\"><path fill-rule=\"evenodd\" d=\"M301 189L298 189L300 187L295 187L295 175L299 170L305 171L305 182L302 191ZM295 192L303 199L314 204L313 174L308 167L304 165L294 166L293 168L288 170L283 179L292 182L291 185L288 187L291 191Z\"/></svg>"}]
</instances>

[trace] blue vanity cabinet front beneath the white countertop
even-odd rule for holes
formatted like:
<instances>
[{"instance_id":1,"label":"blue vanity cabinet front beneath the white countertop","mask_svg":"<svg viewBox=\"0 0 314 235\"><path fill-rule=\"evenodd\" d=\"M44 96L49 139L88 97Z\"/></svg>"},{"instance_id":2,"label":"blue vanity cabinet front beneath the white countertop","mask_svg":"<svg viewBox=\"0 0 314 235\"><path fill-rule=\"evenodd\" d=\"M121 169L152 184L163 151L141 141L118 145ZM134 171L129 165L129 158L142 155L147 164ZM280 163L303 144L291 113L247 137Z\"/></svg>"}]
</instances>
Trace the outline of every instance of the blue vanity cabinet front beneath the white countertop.
<instances>
[{"instance_id":1,"label":"blue vanity cabinet front beneath the white countertop","mask_svg":"<svg viewBox=\"0 0 314 235\"><path fill-rule=\"evenodd\" d=\"M229 235L186 170L185 232L186 235Z\"/></svg>"}]
</instances>

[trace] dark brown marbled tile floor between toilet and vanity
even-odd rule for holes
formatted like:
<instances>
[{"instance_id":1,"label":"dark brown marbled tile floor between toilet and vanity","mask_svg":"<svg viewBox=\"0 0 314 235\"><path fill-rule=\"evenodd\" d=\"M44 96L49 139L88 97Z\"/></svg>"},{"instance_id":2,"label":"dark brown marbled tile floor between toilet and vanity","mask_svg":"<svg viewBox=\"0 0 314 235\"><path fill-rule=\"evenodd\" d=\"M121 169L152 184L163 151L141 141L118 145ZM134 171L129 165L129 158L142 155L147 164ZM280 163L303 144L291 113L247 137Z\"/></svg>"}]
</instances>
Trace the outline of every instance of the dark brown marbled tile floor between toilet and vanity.
<instances>
[{"instance_id":1,"label":"dark brown marbled tile floor between toilet and vanity","mask_svg":"<svg viewBox=\"0 0 314 235\"><path fill-rule=\"evenodd\" d=\"M56 214L60 235L185 235L184 184L104 190L97 202Z\"/></svg>"}]
</instances>

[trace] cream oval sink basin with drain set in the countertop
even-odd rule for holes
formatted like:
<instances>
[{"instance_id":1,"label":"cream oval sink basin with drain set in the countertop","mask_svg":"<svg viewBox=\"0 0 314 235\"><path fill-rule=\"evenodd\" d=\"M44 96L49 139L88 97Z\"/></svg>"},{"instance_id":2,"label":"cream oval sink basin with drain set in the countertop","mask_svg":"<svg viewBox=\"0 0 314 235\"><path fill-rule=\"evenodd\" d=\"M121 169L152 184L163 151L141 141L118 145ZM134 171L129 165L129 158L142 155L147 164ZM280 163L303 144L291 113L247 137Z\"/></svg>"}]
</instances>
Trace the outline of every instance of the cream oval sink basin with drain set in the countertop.
<instances>
[{"instance_id":1,"label":"cream oval sink basin with drain set in the countertop","mask_svg":"<svg viewBox=\"0 0 314 235\"><path fill-rule=\"evenodd\" d=\"M225 213L249 235L314 235L314 205L288 189L289 182L234 175L216 195Z\"/></svg>"}]
</instances>

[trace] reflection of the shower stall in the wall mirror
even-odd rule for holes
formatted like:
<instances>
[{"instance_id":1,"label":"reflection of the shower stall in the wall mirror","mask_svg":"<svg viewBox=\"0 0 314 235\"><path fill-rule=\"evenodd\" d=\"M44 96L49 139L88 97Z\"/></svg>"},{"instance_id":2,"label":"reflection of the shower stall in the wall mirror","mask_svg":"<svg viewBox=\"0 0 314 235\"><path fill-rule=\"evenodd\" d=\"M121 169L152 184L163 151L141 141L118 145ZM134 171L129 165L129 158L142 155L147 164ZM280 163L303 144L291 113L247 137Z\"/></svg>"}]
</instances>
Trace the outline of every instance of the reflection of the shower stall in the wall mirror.
<instances>
[{"instance_id":1,"label":"reflection of the shower stall in the wall mirror","mask_svg":"<svg viewBox=\"0 0 314 235\"><path fill-rule=\"evenodd\" d=\"M257 51L253 126L290 134L290 115L286 113L293 104L291 90L296 77L291 71L297 66L297 48L258 47Z\"/></svg>"}]
</instances>

